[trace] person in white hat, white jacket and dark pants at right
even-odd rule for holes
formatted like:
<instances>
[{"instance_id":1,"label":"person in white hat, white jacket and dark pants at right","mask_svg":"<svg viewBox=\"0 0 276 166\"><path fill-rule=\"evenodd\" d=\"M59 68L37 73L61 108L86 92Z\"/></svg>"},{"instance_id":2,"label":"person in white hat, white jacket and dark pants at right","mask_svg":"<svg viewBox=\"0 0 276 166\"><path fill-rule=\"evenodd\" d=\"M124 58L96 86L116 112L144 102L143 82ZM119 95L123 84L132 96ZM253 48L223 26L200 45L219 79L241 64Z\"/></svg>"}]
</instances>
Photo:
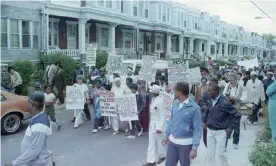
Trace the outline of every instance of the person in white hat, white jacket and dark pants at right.
<instances>
[{"instance_id":1,"label":"person in white hat, white jacket and dark pants at right","mask_svg":"<svg viewBox=\"0 0 276 166\"><path fill-rule=\"evenodd\" d=\"M247 102L253 104L252 114L250 116L249 124L258 124L258 111L261 107L260 102L265 101L265 93L263 83L257 79L257 72L252 71L250 73L251 79L247 81L245 91L247 96Z\"/></svg>"}]
</instances>

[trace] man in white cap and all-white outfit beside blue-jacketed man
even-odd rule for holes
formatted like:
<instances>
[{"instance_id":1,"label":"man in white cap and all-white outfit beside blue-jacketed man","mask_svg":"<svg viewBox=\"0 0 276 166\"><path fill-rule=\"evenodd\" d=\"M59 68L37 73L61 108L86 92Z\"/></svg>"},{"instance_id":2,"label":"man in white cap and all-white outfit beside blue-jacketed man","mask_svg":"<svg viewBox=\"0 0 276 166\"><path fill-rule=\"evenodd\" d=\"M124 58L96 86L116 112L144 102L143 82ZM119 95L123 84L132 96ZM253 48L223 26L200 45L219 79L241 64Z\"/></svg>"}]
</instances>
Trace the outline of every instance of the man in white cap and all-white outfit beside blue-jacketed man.
<instances>
[{"instance_id":1,"label":"man in white cap and all-white outfit beside blue-jacketed man","mask_svg":"<svg viewBox=\"0 0 276 166\"><path fill-rule=\"evenodd\" d=\"M155 166L165 160L165 147L162 144L165 129L166 105L159 96L161 88L153 85L150 88L152 100L150 103L149 145L147 151L147 163L143 166Z\"/></svg>"}]
</instances>

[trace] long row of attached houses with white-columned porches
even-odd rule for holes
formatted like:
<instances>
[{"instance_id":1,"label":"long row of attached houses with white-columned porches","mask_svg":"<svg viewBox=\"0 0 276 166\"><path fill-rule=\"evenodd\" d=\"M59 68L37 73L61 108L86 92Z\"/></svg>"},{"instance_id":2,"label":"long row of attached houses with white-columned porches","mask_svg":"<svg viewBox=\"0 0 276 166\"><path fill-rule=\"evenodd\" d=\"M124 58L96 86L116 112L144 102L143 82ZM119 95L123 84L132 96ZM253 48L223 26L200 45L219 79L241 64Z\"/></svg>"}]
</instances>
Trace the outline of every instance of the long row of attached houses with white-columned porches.
<instances>
[{"instance_id":1,"label":"long row of attached houses with white-columned porches","mask_svg":"<svg viewBox=\"0 0 276 166\"><path fill-rule=\"evenodd\" d=\"M41 52L78 59L88 43L133 58L263 58L268 50L257 33L172 1L1 2L2 62L35 61Z\"/></svg>"}]
</instances>

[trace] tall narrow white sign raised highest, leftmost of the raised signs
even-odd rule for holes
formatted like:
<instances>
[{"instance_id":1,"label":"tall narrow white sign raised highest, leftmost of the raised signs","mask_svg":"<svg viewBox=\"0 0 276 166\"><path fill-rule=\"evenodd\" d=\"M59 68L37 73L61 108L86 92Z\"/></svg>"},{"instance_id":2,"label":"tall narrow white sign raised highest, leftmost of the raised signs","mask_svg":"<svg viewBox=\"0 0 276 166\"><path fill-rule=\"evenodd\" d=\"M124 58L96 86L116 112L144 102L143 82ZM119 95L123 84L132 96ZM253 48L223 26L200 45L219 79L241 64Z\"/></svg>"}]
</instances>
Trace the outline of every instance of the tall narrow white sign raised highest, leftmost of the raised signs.
<instances>
[{"instance_id":1,"label":"tall narrow white sign raised highest, leftmost of the raised signs","mask_svg":"<svg viewBox=\"0 0 276 166\"><path fill-rule=\"evenodd\" d=\"M86 44L86 66L96 66L97 43Z\"/></svg>"}]
</instances>

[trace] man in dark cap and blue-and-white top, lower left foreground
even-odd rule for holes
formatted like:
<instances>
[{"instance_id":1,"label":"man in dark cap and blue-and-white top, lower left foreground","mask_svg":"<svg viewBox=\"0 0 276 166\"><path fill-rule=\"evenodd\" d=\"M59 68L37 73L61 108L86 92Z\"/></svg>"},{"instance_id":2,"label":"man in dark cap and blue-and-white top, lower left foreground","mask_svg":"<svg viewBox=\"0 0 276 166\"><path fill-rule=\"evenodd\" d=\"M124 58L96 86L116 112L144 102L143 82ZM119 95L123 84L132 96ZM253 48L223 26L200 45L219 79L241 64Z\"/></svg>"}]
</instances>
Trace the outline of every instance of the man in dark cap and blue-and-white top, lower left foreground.
<instances>
[{"instance_id":1,"label":"man in dark cap and blue-and-white top, lower left foreground","mask_svg":"<svg viewBox=\"0 0 276 166\"><path fill-rule=\"evenodd\" d=\"M44 93L35 91L29 97L33 118L25 132L21 146L21 156L6 166L40 165L52 166L52 152L48 148L48 138L52 128L44 108Z\"/></svg>"}]
</instances>

